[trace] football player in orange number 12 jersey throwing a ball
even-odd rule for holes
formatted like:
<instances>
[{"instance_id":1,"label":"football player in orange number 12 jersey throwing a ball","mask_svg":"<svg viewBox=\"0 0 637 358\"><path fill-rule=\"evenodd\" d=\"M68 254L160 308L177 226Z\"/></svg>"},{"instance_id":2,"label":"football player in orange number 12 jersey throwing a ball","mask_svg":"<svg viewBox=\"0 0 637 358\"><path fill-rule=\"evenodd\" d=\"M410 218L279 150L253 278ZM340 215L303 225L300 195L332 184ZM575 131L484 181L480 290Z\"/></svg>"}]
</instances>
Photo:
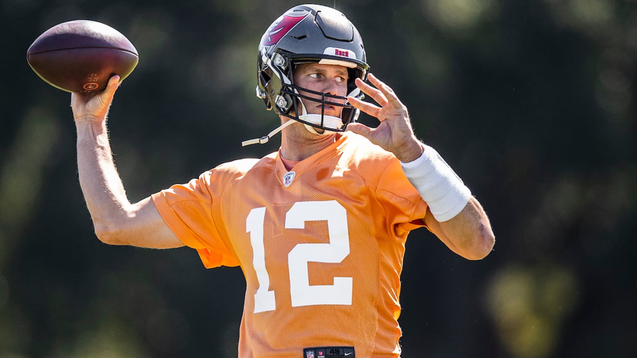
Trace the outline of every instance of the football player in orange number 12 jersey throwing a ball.
<instances>
[{"instance_id":1,"label":"football player in orange number 12 jersey throwing a ball","mask_svg":"<svg viewBox=\"0 0 637 358\"><path fill-rule=\"evenodd\" d=\"M138 203L110 150L111 78L71 96L80 185L99 240L187 246L206 268L240 266L246 280L241 358L399 357L405 241L426 227L475 260L494 245L482 206L407 108L369 73L355 26L340 11L301 5L263 34L257 97L280 118L277 152L226 162ZM375 103L362 101L368 96ZM380 124L356 119L364 111Z\"/></svg>"}]
</instances>

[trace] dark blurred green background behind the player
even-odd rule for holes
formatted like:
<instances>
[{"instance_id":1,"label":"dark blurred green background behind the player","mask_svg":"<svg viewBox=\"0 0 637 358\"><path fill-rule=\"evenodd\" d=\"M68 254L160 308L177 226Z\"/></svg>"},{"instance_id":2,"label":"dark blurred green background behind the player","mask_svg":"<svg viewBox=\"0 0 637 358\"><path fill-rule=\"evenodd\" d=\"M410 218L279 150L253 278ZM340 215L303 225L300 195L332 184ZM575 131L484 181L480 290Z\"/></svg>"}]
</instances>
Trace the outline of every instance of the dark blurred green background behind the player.
<instances>
[{"instance_id":1,"label":"dark blurred green background behind the player","mask_svg":"<svg viewBox=\"0 0 637 358\"><path fill-rule=\"evenodd\" d=\"M637 356L637 3L319 1L489 214L494 252L407 243L403 357ZM131 201L278 149L257 43L287 0L0 3L0 356L236 357L245 281L189 248L110 247L78 184L69 94L31 71L80 18L140 52L110 113ZM362 118L374 125L370 118ZM318 322L317 322L318 324Z\"/></svg>"}]
</instances>

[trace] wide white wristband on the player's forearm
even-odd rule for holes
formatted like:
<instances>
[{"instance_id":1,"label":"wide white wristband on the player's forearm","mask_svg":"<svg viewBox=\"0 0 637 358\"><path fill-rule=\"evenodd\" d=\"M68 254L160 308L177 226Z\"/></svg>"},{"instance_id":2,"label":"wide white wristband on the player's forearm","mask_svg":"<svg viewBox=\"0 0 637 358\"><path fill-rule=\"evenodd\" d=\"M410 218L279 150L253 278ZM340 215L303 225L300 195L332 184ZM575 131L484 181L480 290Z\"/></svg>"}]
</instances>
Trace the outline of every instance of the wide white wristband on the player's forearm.
<instances>
[{"instance_id":1,"label":"wide white wristband on the player's forearm","mask_svg":"<svg viewBox=\"0 0 637 358\"><path fill-rule=\"evenodd\" d=\"M425 146L418 159L403 163L404 175L429 205L436 220L443 222L458 215L471 199L471 190L434 148Z\"/></svg>"}]
</instances>

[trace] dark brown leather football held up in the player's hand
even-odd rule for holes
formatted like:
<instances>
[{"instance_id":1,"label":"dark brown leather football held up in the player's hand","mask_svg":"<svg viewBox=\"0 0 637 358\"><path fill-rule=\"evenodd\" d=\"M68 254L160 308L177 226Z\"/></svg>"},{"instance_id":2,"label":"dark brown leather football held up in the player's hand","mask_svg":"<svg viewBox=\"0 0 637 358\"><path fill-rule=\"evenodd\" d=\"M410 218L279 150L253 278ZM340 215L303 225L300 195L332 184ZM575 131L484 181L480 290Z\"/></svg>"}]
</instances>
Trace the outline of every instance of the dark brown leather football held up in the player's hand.
<instances>
[{"instance_id":1,"label":"dark brown leather football held up in the player's hand","mask_svg":"<svg viewBox=\"0 0 637 358\"><path fill-rule=\"evenodd\" d=\"M33 71L67 92L99 92L113 75L124 80L139 60L136 48L122 33L91 20L55 25L27 50Z\"/></svg>"}]
</instances>

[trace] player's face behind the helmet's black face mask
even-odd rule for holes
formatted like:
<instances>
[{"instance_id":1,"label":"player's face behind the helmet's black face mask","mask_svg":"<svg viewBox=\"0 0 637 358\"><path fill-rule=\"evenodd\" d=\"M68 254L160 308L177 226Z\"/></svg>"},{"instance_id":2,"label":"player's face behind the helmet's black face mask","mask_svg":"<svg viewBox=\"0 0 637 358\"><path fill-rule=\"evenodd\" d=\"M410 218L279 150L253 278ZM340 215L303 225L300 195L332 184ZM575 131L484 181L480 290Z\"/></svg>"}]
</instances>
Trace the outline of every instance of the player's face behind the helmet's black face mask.
<instances>
[{"instance_id":1,"label":"player's face behind the helmet's black face mask","mask_svg":"<svg viewBox=\"0 0 637 358\"><path fill-rule=\"evenodd\" d=\"M333 64L318 64L318 63L304 63L298 64L294 69L294 84L303 87L304 89L314 90L325 94L332 94L334 96L347 96L347 79L348 72L345 66L333 65ZM308 113L320 114L322 110L322 103L320 103L320 96L310 94L308 92L299 91L304 96L317 98L319 102L310 101L309 99L301 99L305 105L305 109ZM331 102L338 102L345 104L345 100L342 101L336 99L329 99ZM340 117L340 106L331 106L326 104L324 113L334 117Z\"/></svg>"}]
</instances>

